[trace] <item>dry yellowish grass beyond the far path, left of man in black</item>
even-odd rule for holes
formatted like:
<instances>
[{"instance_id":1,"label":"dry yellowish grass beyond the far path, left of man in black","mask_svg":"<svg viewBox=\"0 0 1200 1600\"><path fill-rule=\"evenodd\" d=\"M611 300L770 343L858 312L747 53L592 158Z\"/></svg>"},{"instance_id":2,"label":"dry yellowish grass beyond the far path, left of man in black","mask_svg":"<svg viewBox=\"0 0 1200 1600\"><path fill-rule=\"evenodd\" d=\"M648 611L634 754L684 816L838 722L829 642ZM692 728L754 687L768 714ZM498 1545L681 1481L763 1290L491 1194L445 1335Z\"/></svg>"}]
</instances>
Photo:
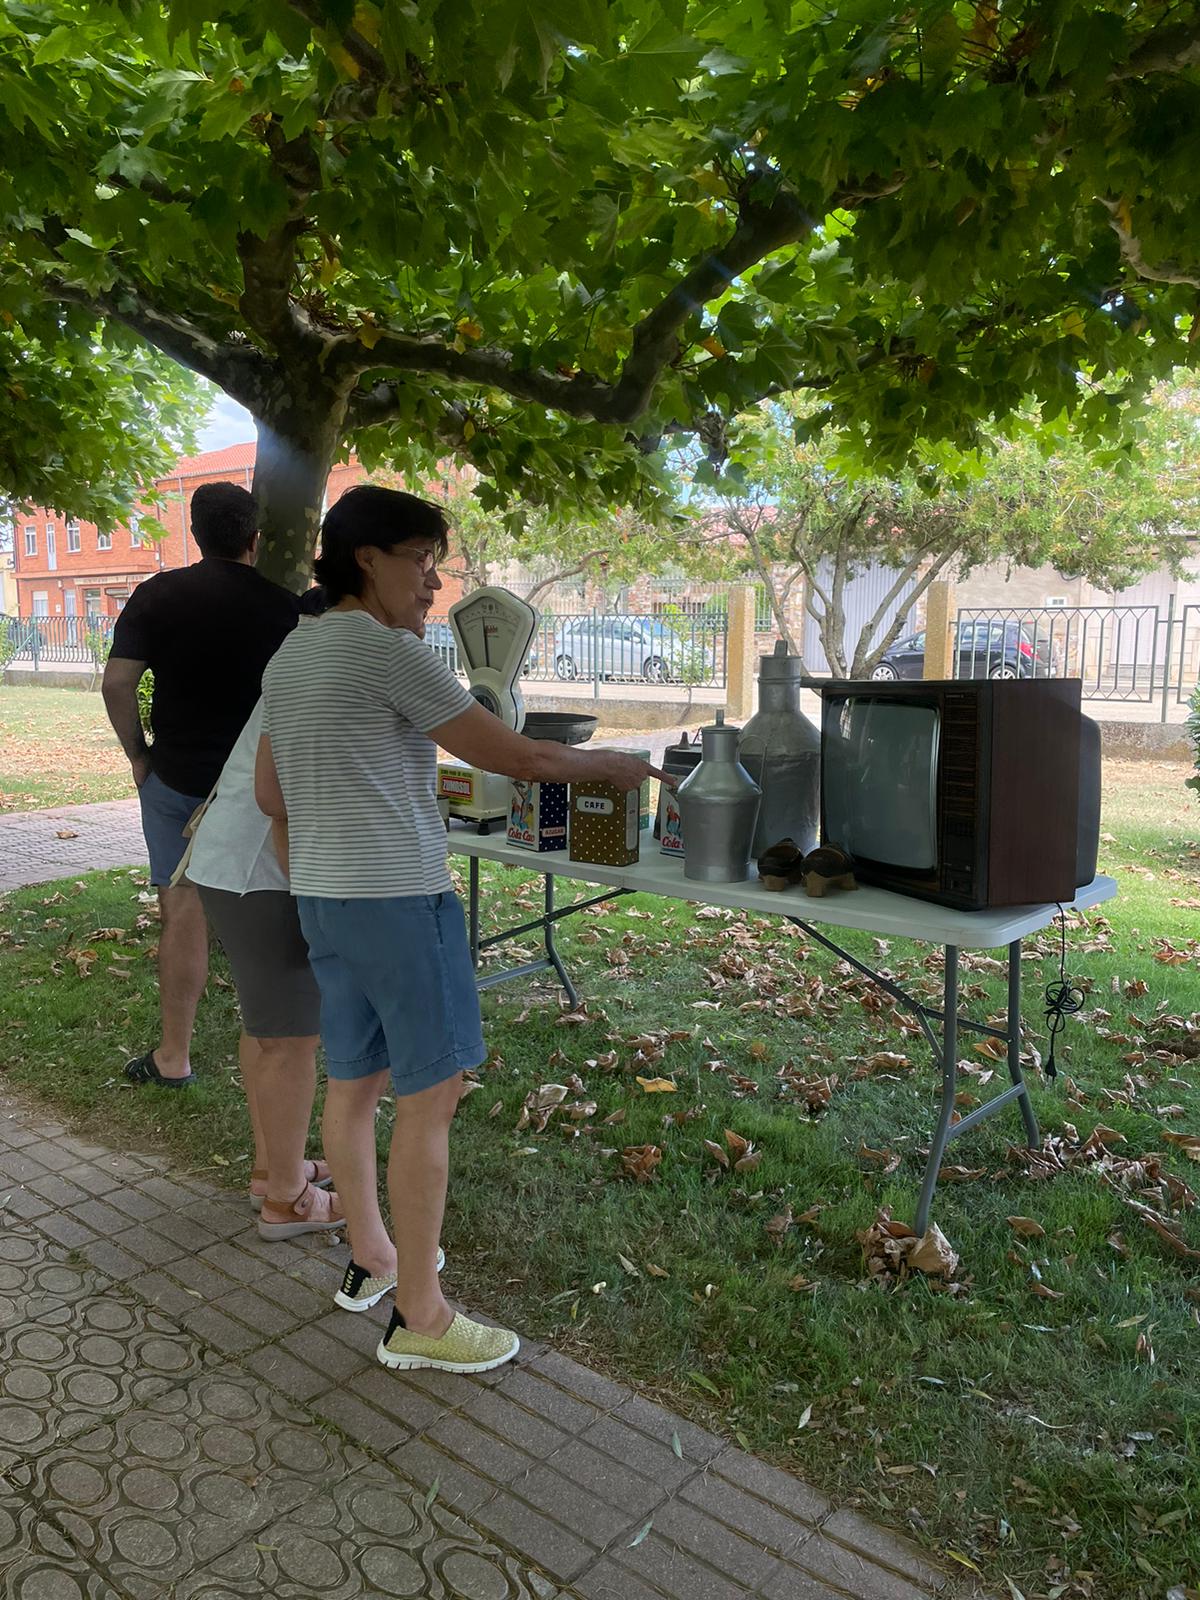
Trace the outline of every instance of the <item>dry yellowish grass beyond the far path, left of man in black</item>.
<instances>
[{"instance_id":1,"label":"dry yellowish grass beyond the far path, left of man in black","mask_svg":"<svg viewBox=\"0 0 1200 1600\"><path fill-rule=\"evenodd\" d=\"M98 693L0 685L0 811L133 794L130 763Z\"/></svg>"}]
</instances>

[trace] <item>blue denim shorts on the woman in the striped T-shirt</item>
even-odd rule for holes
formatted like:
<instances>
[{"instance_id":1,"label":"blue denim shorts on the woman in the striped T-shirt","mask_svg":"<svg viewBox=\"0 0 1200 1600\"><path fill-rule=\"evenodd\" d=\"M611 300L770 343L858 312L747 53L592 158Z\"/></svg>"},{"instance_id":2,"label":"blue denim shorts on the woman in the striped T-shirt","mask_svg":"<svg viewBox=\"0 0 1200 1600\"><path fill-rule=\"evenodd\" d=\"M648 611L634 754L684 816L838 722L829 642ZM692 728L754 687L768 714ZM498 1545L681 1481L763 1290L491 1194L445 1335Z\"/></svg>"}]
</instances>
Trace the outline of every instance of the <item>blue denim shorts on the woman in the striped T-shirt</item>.
<instances>
[{"instance_id":1,"label":"blue denim shorts on the woman in the striped T-shirt","mask_svg":"<svg viewBox=\"0 0 1200 1600\"><path fill-rule=\"evenodd\" d=\"M419 1094L483 1061L475 970L454 894L298 894L296 902L322 992L331 1078L390 1069L397 1096Z\"/></svg>"}]
</instances>

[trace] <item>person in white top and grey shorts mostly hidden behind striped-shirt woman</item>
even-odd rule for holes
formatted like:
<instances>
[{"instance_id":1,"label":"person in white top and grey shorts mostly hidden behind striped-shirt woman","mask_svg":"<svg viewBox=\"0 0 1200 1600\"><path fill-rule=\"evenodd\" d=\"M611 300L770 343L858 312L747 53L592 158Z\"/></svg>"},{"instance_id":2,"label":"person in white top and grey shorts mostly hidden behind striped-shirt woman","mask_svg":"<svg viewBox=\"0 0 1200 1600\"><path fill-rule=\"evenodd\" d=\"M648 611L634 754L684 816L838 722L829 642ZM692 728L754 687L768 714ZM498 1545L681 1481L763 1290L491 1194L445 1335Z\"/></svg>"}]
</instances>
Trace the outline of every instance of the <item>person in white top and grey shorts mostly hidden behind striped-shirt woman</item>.
<instances>
[{"instance_id":1,"label":"person in white top and grey shorts mostly hidden behind striped-shirt woman","mask_svg":"<svg viewBox=\"0 0 1200 1600\"><path fill-rule=\"evenodd\" d=\"M304 618L325 608L322 590L301 600ZM192 838L186 872L234 974L242 1010L238 1062L254 1133L250 1203L262 1238L294 1238L346 1221L330 1168L306 1160L317 1086L320 992L296 901L254 803L262 701L250 714Z\"/></svg>"}]
</instances>

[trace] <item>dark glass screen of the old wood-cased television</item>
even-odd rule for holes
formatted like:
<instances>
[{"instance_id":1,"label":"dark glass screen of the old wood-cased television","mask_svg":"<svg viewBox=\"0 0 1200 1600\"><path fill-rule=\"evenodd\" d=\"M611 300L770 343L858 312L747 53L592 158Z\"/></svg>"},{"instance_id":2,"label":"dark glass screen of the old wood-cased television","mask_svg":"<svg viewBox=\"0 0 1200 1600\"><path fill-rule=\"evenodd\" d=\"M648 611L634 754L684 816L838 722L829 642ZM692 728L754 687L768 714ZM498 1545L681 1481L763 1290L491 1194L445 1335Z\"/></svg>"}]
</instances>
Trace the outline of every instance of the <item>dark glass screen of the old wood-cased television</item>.
<instances>
[{"instance_id":1,"label":"dark glass screen of the old wood-cased television","mask_svg":"<svg viewBox=\"0 0 1200 1600\"><path fill-rule=\"evenodd\" d=\"M824 749L826 837L901 872L938 866L936 701L846 696Z\"/></svg>"}]
</instances>

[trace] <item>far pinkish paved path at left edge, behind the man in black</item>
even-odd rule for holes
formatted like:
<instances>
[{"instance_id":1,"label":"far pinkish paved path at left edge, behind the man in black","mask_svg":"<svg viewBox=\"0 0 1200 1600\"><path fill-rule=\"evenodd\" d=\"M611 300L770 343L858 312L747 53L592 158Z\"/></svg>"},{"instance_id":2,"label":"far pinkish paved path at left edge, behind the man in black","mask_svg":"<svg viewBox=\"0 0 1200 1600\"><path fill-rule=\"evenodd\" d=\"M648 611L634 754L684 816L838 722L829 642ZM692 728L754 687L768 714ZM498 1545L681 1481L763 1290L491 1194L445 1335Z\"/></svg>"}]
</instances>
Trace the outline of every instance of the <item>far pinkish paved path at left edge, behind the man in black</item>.
<instances>
[{"instance_id":1,"label":"far pinkish paved path at left edge, behind the man in black","mask_svg":"<svg viewBox=\"0 0 1200 1600\"><path fill-rule=\"evenodd\" d=\"M62 837L69 835L69 837ZM0 891L146 862L136 800L0 816Z\"/></svg>"}]
</instances>

